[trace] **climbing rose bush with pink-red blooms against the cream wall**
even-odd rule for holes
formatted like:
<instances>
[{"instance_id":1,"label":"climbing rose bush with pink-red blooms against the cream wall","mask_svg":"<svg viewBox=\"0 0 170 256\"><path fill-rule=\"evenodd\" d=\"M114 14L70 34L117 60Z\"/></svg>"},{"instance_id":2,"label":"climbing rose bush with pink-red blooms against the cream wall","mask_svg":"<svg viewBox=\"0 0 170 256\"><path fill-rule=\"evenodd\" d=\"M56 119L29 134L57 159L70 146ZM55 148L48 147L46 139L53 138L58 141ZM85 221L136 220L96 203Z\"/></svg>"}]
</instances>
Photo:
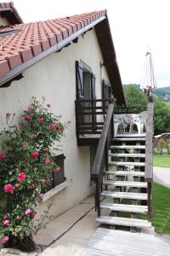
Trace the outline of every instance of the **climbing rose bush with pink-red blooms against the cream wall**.
<instances>
[{"instance_id":1,"label":"climbing rose bush with pink-red blooms against the cream wall","mask_svg":"<svg viewBox=\"0 0 170 256\"><path fill-rule=\"evenodd\" d=\"M54 143L68 127L50 108L44 98L40 103L33 97L18 126L13 125L14 114L6 113L7 127L0 133L0 242L7 247L34 249L32 232L48 216L46 211L34 223L42 190L51 183L49 174L59 172Z\"/></svg>"}]
</instances>

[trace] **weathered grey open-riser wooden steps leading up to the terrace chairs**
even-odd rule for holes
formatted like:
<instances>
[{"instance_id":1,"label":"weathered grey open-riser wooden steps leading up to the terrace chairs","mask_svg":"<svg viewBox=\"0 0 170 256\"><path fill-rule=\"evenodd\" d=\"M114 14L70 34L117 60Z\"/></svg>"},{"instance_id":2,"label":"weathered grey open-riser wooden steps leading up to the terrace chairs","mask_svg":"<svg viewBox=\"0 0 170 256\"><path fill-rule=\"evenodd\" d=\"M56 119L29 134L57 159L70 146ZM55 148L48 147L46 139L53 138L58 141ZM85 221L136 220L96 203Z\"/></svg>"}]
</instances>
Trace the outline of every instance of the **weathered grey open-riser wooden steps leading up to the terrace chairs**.
<instances>
[{"instance_id":1,"label":"weathered grey open-riser wooden steps leading up to the terrace chairs","mask_svg":"<svg viewBox=\"0 0 170 256\"><path fill-rule=\"evenodd\" d=\"M150 228L140 214L150 213L148 183L144 181L145 137L116 137L108 151L108 170L104 172L100 201L101 224L114 228ZM103 212L107 212L107 215ZM149 214L150 217L150 214Z\"/></svg>"}]
</instances>

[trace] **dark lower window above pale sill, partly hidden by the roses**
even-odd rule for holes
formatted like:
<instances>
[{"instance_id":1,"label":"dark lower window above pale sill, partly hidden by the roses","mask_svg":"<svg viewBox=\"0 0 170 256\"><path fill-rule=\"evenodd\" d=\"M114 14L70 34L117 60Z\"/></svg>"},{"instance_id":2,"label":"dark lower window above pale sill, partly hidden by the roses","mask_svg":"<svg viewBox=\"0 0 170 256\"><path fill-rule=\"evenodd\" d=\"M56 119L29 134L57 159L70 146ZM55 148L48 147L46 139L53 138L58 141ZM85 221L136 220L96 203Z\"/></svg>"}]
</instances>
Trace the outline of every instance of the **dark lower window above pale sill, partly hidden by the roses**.
<instances>
[{"instance_id":1,"label":"dark lower window above pale sill, partly hidden by the roses","mask_svg":"<svg viewBox=\"0 0 170 256\"><path fill-rule=\"evenodd\" d=\"M57 185L60 183L65 182L65 166L64 166L64 160L65 160L65 155L64 154L59 154L54 156L54 162L56 163L56 166L59 166L59 171L52 172L49 175L49 178L51 179L51 183L46 187L46 189L42 189L42 193L47 193L49 190L54 189Z\"/></svg>"}]
</instances>

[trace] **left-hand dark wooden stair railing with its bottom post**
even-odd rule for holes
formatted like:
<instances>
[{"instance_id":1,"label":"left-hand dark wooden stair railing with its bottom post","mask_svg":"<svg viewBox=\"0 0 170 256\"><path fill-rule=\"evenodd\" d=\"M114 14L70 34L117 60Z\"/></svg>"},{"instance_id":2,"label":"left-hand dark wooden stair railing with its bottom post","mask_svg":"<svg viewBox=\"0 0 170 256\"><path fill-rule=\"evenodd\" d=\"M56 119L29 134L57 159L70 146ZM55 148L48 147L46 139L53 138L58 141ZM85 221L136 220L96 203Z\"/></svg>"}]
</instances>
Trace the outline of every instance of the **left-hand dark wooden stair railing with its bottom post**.
<instances>
[{"instance_id":1,"label":"left-hand dark wooden stair railing with its bottom post","mask_svg":"<svg viewBox=\"0 0 170 256\"><path fill-rule=\"evenodd\" d=\"M113 137L113 111L114 103L110 103L105 117L105 122L99 138L99 145L94 159L94 167L92 170L92 179L96 183L95 189L95 210L100 216L100 194L105 169L108 170L108 149L110 147L111 138Z\"/></svg>"}]
</instances>

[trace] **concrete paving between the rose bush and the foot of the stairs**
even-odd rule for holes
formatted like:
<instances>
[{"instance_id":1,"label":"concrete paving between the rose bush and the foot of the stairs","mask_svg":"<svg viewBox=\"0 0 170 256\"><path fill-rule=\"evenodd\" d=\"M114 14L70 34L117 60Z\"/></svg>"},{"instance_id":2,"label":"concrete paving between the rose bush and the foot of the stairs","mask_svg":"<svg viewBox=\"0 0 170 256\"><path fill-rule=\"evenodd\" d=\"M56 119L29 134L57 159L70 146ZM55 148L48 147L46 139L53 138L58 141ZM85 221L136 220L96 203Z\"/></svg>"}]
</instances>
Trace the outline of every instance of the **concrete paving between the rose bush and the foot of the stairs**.
<instances>
[{"instance_id":1,"label":"concrete paving between the rose bush and the foot of the stairs","mask_svg":"<svg viewBox=\"0 0 170 256\"><path fill-rule=\"evenodd\" d=\"M49 245L41 256L79 256L99 226L95 222L94 197L82 201L68 212L54 218L35 240Z\"/></svg>"}]
</instances>

